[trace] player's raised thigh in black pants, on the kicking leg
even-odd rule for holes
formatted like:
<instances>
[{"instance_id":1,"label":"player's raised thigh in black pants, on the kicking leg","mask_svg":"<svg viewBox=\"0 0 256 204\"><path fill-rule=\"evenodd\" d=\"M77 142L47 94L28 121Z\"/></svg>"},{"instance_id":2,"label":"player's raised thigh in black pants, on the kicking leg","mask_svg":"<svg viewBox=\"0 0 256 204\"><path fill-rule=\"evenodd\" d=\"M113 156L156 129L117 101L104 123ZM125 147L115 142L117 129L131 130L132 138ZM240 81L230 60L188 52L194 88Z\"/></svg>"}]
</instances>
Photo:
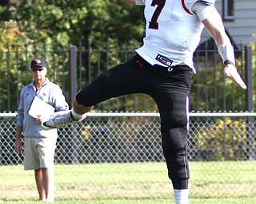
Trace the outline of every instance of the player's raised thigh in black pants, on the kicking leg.
<instances>
[{"instance_id":1,"label":"player's raised thigh in black pants, on the kicking leg","mask_svg":"<svg viewBox=\"0 0 256 204\"><path fill-rule=\"evenodd\" d=\"M130 63L117 65L78 92L76 100L78 104L92 106L116 96L142 92L139 80L142 74L138 72Z\"/></svg>"}]
</instances>

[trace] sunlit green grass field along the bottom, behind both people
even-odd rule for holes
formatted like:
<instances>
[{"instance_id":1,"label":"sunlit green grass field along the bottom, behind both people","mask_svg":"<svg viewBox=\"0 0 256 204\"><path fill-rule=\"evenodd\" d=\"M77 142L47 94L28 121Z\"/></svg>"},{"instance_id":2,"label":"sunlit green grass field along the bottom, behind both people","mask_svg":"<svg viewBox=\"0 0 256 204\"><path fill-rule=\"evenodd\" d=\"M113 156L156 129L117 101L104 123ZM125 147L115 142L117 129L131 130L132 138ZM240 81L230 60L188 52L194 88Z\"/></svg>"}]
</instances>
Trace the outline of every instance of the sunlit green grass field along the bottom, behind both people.
<instances>
[{"instance_id":1,"label":"sunlit green grass field along the bottom, behind both people","mask_svg":"<svg viewBox=\"0 0 256 204\"><path fill-rule=\"evenodd\" d=\"M55 165L57 203L174 203L165 163ZM191 162L190 203L256 203L255 162ZM34 171L0 166L0 203L37 203Z\"/></svg>"}]
</instances>

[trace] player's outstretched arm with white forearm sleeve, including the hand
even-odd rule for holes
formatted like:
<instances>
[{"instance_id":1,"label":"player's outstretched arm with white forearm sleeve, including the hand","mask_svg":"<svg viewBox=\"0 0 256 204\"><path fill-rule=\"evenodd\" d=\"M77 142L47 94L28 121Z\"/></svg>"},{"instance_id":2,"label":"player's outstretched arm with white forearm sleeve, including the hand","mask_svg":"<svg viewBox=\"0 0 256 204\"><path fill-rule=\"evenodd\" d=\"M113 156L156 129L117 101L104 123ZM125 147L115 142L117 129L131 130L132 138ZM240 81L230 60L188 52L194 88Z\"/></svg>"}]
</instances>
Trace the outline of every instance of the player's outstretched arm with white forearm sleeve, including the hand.
<instances>
[{"instance_id":1,"label":"player's outstretched arm with white forearm sleeve, including the hand","mask_svg":"<svg viewBox=\"0 0 256 204\"><path fill-rule=\"evenodd\" d=\"M214 37L214 41L218 46L218 53L222 57L225 65L224 74L226 77L234 80L241 88L246 89L246 84L235 67L234 48L230 43L230 38L226 35L222 18L218 14L218 11L214 6L202 6L201 4L195 12L197 12L200 18L203 18L203 16L206 17L202 20L202 23L206 26L211 36Z\"/></svg>"}]
</instances>

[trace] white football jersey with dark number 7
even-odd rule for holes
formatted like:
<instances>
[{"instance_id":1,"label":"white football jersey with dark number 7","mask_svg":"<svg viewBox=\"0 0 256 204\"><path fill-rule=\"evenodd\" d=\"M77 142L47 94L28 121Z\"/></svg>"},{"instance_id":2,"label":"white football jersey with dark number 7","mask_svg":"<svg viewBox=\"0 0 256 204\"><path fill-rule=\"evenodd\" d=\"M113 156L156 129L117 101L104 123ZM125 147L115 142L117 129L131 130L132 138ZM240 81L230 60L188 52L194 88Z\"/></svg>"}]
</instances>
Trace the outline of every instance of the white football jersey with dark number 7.
<instances>
[{"instance_id":1,"label":"white football jersey with dark number 7","mask_svg":"<svg viewBox=\"0 0 256 204\"><path fill-rule=\"evenodd\" d=\"M203 24L192 7L195 2L213 5L214 0L136 0L145 5L146 37L136 52L151 65L188 65L194 69L193 53Z\"/></svg>"}]
</instances>

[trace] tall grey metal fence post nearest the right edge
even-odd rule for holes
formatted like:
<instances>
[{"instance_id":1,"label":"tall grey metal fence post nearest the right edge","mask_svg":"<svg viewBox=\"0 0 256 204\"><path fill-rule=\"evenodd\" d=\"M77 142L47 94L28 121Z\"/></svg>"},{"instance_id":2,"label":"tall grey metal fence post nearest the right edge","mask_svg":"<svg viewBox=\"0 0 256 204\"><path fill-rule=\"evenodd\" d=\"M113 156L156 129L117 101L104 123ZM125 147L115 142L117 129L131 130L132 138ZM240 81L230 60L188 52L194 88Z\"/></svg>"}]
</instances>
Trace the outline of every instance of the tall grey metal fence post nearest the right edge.
<instances>
[{"instance_id":1,"label":"tall grey metal fence post nearest the right edge","mask_svg":"<svg viewBox=\"0 0 256 204\"><path fill-rule=\"evenodd\" d=\"M247 90L246 90L246 102L247 102L247 111L248 112L254 112L254 83L253 83L253 65L252 65L252 47L250 45L245 46L245 60L246 60L246 84L247 84ZM255 147L254 147L254 117L250 116L248 117L248 135L247 135L247 148L248 148L248 159L254 160L255 159Z\"/></svg>"}]
</instances>

